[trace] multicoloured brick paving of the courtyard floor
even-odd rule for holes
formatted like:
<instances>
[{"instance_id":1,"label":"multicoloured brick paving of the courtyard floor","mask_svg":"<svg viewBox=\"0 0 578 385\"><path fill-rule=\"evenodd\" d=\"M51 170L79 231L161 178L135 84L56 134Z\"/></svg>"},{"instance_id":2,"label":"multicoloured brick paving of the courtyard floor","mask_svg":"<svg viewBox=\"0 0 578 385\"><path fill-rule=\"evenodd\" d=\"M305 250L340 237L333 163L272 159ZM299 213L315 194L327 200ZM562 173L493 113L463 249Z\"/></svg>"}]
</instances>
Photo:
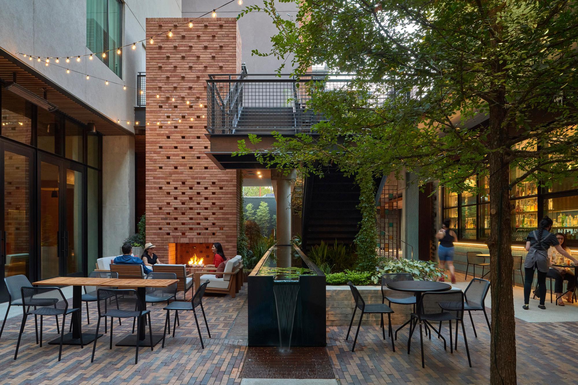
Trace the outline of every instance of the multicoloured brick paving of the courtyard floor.
<instances>
[{"instance_id":1,"label":"multicoloured brick paving of the courtyard floor","mask_svg":"<svg viewBox=\"0 0 578 385\"><path fill-rule=\"evenodd\" d=\"M190 296L188 297L190 298ZM142 347L139 363L134 365L134 347L113 346L108 349L109 335L97 342L95 362L91 364L92 344L80 349L63 346L62 361L58 362L58 346L35 344L34 321L29 320L23 342L14 361L14 348L21 318L6 323L0 339L0 383L2 384L232 384L241 381L239 369L246 351L246 286L236 298L208 296L205 309L213 338L209 339L201 327L205 349L197 335L192 314L182 313L176 338L167 338L164 349L154 351ZM164 327L161 306L152 306L153 332ZM86 325L83 308L83 330L95 327L95 306L91 306L90 325ZM3 314L2 314L3 316ZM468 360L462 336L458 350L450 354L443 350L443 342L435 336L424 339L425 369L421 368L419 337L412 340L411 354L407 354L407 331L398 334L396 351L381 339L377 327L361 327L355 353L351 341L345 341L346 327L327 328L327 351L334 364L336 378L341 383L428 383L464 384L489 382L490 335L483 315L475 315L477 339L466 321L466 333L472 357ZM68 326L67 326L68 327ZM102 326L101 326L102 327ZM114 340L128 335L132 323L114 325ZM578 378L578 323L516 322L518 383L576 383ZM55 338L54 318L45 321L43 340ZM447 336L447 326L445 327ZM101 332L103 328L101 328ZM460 331L461 334L461 331Z\"/></svg>"}]
</instances>

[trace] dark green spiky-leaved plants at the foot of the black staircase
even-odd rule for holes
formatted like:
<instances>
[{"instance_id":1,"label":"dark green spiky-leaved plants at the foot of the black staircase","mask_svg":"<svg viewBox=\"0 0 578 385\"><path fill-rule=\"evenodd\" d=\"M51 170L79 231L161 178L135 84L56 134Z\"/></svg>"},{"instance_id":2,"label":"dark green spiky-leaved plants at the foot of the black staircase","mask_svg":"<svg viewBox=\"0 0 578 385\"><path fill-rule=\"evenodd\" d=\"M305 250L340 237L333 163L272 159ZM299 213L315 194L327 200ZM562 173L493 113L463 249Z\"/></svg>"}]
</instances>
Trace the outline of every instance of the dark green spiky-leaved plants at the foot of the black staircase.
<instances>
[{"instance_id":1,"label":"dark green spiky-leaved plants at the foot of the black staircase","mask_svg":"<svg viewBox=\"0 0 578 385\"><path fill-rule=\"evenodd\" d=\"M308 257L325 273L344 271L357 264L354 247L337 243L337 240L333 245L321 241L319 245L311 248Z\"/></svg>"}]
</instances>

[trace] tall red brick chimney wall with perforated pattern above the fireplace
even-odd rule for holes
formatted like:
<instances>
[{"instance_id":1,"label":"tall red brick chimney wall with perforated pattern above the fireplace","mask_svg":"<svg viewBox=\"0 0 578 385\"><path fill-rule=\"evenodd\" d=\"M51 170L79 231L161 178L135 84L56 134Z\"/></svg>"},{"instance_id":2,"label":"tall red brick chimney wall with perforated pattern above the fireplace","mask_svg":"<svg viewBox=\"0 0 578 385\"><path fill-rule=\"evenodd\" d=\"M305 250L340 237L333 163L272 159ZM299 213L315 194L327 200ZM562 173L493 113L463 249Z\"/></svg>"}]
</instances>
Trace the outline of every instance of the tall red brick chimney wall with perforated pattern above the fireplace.
<instances>
[{"instance_id":1,"label":"tall red brick chimney wall with perforated pattern above the fireplace","mask_svg":"<svg viewBox=\"0 0 578 385\"><path fill-rule=\"evenodd\" d=\"M206 157L205 115L208 74L240 72L239 29L235 18L177 27L187 22L146 21L147 36L174 28L146 54L146 242L163 262L175 260L169 243L221 242L227 257L236 254L239 176Z\"/></svg>"}]
</instances>

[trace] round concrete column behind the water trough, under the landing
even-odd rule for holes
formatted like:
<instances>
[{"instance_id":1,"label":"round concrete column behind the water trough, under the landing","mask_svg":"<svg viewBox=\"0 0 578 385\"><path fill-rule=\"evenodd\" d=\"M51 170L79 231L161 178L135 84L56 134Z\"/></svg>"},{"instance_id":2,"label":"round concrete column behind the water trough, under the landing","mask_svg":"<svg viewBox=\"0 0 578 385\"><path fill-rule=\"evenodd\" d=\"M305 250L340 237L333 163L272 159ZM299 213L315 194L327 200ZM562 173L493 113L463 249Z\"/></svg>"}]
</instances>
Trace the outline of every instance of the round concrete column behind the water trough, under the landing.
<instances>
[{"instance_id":1,"label":"round concrete column behind the water trough, under the landing","mask_svg":"<svg viewBox=\"0 0 578 385\"><path fill-rule=\"evenodd\" d=\"M287 175L282 171L271 171L271 182L275 184L277 201L277 245L291 245L291 182L295 170ZM291 266L291 248L277 248L277 266Z\"/></svg>"}]
</instances>

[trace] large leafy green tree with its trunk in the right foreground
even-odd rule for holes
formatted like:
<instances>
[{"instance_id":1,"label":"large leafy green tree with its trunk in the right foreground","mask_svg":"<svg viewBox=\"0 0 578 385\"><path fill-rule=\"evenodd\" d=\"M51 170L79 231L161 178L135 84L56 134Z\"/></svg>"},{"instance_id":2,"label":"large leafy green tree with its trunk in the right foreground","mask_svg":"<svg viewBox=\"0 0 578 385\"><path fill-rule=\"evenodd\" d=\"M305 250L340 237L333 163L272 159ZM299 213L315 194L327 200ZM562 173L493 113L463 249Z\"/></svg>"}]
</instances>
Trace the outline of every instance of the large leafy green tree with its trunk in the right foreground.
<instances>
[{"instance_id":1,"label":"large leafy green tree with its trunk in the right foreground","mask_svg":"<svg viewBox=\"0 0 578 385\"><path fill-rule=\"evenodd\" d=\"M490 380L515 384L510 190L578 175L578 3L294 1L295 19L275 1L240 14L266 12L279 29L271 52L253 53L279 57L279 71L291 60L296 75L325 64L353 76L333 90L310 86L307 107L327 119L316 135L276 134L272 149L253 136L239 152L305 172L332 163L365 181L407 171L457 192L479 193L470 178L487 178Z\"/></svg>"}]
</instances>

